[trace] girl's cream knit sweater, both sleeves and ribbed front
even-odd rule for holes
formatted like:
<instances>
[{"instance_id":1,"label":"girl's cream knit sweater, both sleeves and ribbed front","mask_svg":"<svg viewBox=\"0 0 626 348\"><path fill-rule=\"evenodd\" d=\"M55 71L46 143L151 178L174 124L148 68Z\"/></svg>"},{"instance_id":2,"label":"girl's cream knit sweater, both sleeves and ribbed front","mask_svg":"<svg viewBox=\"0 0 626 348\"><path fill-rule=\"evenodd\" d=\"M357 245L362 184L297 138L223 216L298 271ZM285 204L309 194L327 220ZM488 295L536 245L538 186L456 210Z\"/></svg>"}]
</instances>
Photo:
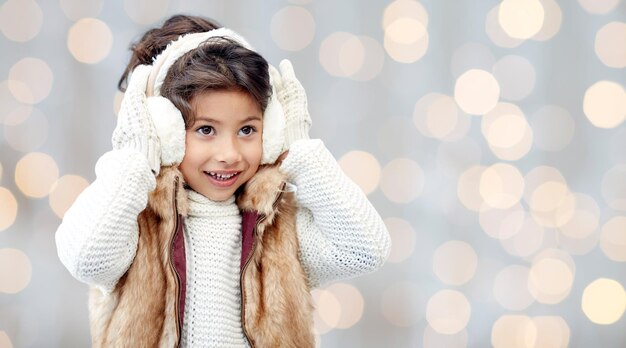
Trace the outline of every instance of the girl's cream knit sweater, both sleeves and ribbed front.
<instances>
[{"instance_id":1,"label":"girl's cream knit sweater, both sleeves and ribbed front","mask_svg":"<svg viewBox=\"0 0 626 348\"><path fill-rule=\"evenodd\" d=\"M385 261L389 234L367 197L320 140L293 143L281 169L297 187L300 260L312 287L372 272ZM130 266L137 216L156 180L145 156L113 150L56 233L59 258L78 280L111 291ZM183 347L246 347L241 329L241 216L234 198L212 202L189 191L184 222L187 294Z\"/></svg>"}]
</instances>

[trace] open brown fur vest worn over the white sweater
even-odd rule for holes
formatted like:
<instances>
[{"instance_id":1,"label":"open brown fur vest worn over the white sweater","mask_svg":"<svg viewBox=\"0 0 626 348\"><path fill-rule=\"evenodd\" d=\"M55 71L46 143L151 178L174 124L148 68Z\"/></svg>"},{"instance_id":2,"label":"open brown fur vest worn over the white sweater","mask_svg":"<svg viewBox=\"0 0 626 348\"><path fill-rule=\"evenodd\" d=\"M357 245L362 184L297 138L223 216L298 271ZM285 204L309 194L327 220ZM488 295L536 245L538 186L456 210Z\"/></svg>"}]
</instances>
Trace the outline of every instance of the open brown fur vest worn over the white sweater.
<instances>
[{"instance_id":1,"label":"open brown fur vest worn over the white sweater","mask_svg":"<svg viewBox=\"0 0 626 348\"><path fill-rule=\"evenodd\" d=\"M242 327L253 347L314 347L312 304L298 259L296 205L282 192L285 176L264 166L237 198L242 211ZM139 215L130 268L110 294L93 288L89 310L94 347L177 347L186 270L182 176L164 167Z\"/></svg>"}]
</instances>

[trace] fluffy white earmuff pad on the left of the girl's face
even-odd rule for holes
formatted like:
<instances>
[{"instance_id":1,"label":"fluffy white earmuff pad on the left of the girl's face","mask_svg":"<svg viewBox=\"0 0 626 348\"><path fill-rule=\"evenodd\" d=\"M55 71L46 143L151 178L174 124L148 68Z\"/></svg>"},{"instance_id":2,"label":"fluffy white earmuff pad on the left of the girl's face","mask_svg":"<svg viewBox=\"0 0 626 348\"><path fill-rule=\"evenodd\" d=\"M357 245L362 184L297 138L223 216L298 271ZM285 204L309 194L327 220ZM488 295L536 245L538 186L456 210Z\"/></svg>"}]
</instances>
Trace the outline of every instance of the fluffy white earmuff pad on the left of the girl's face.
<instances>
[{"instance_id":1,"label":"fluffy white earmuff pad on the left of the girl's face","mask_svg":"<svg viewBox=\"0 0 626 348\"><path fill-rule=\"evenodd\" d=\"M185 156L185 122L180 111L163 97L147 99L152 123L161 142L161 164L178 165Z\"/></svg>"}]
</instances>

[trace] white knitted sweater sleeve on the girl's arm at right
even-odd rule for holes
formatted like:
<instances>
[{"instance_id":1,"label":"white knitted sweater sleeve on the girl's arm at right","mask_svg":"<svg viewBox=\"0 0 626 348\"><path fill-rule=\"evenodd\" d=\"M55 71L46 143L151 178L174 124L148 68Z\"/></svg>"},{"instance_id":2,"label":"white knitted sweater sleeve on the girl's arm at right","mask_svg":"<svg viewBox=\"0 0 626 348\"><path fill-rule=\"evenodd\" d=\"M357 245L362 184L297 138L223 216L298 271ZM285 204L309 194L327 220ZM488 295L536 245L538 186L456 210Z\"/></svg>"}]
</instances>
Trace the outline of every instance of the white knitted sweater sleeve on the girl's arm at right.
<instances>
[{"instance_id":1,"label":"white knitted sweater sleeve on the girl's arm at right","mask_svg":"<svg viewBox=\"0 0 626 348\"><path fill-rule=\"evenodd\" d=\"M382 266L389 233L321 140L293 143L281 169L297 186L300 261L311 287Z\"/></svg>"}]
</instances>

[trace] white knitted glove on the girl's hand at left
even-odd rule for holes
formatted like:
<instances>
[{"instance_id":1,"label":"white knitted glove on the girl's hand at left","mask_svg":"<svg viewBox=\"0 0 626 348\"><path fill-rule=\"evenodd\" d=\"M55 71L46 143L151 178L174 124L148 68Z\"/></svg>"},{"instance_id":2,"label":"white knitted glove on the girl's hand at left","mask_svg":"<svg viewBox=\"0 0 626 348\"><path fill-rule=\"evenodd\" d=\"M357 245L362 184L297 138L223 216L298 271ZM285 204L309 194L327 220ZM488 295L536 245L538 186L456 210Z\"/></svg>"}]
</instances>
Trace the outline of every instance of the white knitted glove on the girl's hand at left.
<instances>
[{"instance_id":1,"label":"white knitted glove on the girl's hand at left","mask_svg":"<svg viewBox=\"0 0 626 348\"><path fill-rule=\"evenodd\" d=\"M152 67L139 65L133 70L111 142L113 149L135 149L146 156L152 172L161 166L161 144L146 102L146 84Z\"/></svg>"}]
</instances>

